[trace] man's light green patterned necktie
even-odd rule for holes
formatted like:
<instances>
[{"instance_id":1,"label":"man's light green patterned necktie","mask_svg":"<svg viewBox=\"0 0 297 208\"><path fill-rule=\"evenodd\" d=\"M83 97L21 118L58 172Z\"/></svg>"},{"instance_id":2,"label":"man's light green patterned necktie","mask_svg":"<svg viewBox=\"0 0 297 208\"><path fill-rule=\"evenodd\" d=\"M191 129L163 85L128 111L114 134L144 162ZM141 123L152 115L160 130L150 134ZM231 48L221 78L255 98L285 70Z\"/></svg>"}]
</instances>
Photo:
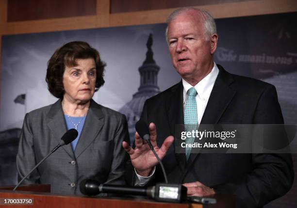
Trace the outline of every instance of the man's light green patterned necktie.
<instances>
[{"instance_id":1,"label":"man's light green patterned necktie","mask_svg":"<svg viewBox=\"0 0 297 208\"><path fill-rule=\"evenodd\" d=\"M197 103L196 103L197 91L194 87L191 87L187 92L187 99L184 105L184 127L186 131L192 132L197 129L198 116L197 116ZM186 138L186 144L193 144L194 137ZM186 147L186 159L188 161L191 147Z\"/></svg>"}]
</instances>

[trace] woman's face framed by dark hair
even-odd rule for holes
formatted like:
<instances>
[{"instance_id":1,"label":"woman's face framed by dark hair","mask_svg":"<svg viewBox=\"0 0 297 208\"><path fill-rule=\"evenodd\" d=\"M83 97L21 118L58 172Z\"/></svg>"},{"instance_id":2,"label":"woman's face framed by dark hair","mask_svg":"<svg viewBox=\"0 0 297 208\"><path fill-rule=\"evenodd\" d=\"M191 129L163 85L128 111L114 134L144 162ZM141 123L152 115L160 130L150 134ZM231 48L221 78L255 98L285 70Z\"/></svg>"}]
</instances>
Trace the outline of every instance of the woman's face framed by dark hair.
<instances>
[{"instance_id":1,"label":"woman's face framed by dark hair","mask_svg":"<svg viewBox=\"0 0 297 208\"><path fill-rule=\"evenodd\" d=\"M63 75L64 100L72 103L88 102L94 95L96 64L94 59L77 59L77 66L65 67Z\"/></svg>"}]
</instances>

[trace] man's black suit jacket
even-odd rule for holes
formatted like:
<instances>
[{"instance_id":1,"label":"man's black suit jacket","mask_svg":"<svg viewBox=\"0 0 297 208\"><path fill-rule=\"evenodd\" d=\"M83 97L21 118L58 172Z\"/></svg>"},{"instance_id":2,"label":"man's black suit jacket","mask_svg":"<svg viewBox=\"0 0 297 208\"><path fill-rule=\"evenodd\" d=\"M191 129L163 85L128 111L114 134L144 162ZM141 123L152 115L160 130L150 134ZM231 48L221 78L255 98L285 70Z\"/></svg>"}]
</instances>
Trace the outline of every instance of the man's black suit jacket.
<instances>
[{"instance_id":1,"label":"man's black suit jacket","mask_svg":"<svg viewBox=\"0 0 297 208\"><path fill-rule=\"evenodd\" d=\"M201 124L283 123L273 85L218 68ZM145 102L141 119L156 124L159 147L166 137L175 135L176 124L183 124L182 102L181 82ZM163 159L170 183L200 181L217 193L236 194L237 207L261 207L286 193L293 183L291 155L191 153L186 162L185 154L176 154L174 146ZM158 166L153 180L164 181Z\"/></svg>"}]
</instances>

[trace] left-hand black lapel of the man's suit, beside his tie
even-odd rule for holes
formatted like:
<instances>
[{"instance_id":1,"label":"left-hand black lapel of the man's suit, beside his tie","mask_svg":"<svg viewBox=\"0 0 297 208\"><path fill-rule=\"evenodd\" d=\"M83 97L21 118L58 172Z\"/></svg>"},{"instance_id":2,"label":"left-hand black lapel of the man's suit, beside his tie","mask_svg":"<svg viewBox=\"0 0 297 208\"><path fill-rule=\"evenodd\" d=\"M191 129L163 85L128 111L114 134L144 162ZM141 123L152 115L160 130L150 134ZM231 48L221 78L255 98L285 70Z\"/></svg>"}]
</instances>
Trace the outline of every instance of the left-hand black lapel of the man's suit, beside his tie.
<instances>
[{"instance_id":1,"label":"left-hand black lapel of the man's suit, beside his tie","mask_svg":"<svg viewBox=\"0 0 297 208\"><path fill-rule=\"evenodd\" d=\"M172 94L166 100L166 110L168 112L168 123L170 124L171 135L176 135L176 124L183 124L183 86L182 82L178 83L172 88ZM177 135L181 135L177 133ZM175 152L175 142L174 139L174 152ZM181 170L184 170L186 164L185 154L175 153L176 160L181 167Z\"/></svg>"}]
</instances>

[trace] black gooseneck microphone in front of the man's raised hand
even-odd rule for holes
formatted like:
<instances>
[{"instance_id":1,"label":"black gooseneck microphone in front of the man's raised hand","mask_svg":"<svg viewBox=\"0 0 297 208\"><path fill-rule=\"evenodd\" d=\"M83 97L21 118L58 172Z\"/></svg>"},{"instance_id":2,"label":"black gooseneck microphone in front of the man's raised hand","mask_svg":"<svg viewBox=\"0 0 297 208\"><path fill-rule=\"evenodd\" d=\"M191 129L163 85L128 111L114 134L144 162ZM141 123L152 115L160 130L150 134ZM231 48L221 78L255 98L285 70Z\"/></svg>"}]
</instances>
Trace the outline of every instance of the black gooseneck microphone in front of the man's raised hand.
<instances>
[{"instance_id":1,"label":"black gooseneck microphone in front of the man's raised hand","mask_svg":"<svg viewBox=\"0 0 297 208\"><path fill-rule=\"evenodd\" d=\"M151 151L154 153L155 157L157 158L158 162L161 165L161 169L162 169L162 172L163 172L163 175L165 178L165 183L168 183L167 175L166 175L163 163L160 160L160 158L158 157L156 151L154 150L154 147L152 146L152 144L150 142L148 124L146 122L144 122L143 120L139 120L139 121L137 121L137 123L135 125L135 129L138 132L139 136L148 142L148 146L150 147Z\"/></svg>"}]
</instances>

